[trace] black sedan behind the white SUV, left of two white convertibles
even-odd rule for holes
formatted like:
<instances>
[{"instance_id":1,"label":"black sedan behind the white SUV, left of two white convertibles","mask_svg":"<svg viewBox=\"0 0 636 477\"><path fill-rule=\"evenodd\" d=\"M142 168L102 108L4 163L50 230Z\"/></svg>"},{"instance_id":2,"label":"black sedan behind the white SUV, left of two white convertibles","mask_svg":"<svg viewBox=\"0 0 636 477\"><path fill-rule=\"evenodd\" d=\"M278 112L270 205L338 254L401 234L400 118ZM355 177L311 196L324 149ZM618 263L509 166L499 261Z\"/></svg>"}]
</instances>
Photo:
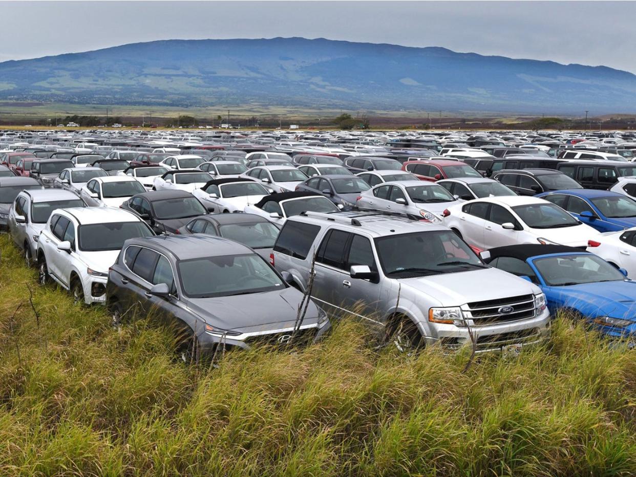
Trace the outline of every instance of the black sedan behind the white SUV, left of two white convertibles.
<instances>
[{"instance_id":1,"label":"black sedan behind the white SUV, left of two white convertibles","mask_svg":"<svg viewBox=\"0 0 636 477\"><path fill-rule=\"evenodd\" d=\"M176 233L191 218L207 214L198 198L181 190L142 192L120 207L144 219L155 233Z\"/></svg>"}]
</instances>

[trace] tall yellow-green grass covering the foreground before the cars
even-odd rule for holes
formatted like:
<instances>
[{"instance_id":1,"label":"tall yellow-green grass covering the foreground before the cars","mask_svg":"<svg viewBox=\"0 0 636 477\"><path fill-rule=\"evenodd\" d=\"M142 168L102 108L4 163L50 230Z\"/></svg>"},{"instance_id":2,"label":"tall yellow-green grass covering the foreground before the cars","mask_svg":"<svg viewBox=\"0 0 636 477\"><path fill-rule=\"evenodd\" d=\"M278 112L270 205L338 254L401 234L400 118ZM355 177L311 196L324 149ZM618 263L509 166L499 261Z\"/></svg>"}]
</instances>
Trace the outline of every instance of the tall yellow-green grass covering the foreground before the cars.
<instances>
[{"instance_id":1,"label":"tall yellow-green grass covering the foreground before the cars","mask_svg":"<svg viewBox=\"0 0 636 477\"><path fill-rule=\"evenodd\" d=\"M2 476L636 473L636 352L565 319L466 373L467 350L376 352L347 320L305 349L186 366L169 333L111 328L0 251Z\"/></svg>"}]
</instances>

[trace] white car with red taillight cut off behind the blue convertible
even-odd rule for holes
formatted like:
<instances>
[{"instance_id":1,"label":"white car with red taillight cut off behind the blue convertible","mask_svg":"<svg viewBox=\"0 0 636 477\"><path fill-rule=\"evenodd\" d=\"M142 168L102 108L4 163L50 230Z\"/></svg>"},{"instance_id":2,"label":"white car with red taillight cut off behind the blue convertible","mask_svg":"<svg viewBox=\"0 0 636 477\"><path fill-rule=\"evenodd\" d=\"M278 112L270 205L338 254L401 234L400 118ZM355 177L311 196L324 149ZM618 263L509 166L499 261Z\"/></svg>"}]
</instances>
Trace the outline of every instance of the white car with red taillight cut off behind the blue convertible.
<instances>
[{"instance_id":1,"label":"white car with red taillight cut off behind the blue convertible","mask_svg":"<svg viewBox=\"0 0 636 477\"><path fill-rule=\"evenodd\" d=\"M597 254L616 268L625 268L628 277L636 277L636 227L600 233L588 241L588 252Z\"/></svg>"}]
</instances>

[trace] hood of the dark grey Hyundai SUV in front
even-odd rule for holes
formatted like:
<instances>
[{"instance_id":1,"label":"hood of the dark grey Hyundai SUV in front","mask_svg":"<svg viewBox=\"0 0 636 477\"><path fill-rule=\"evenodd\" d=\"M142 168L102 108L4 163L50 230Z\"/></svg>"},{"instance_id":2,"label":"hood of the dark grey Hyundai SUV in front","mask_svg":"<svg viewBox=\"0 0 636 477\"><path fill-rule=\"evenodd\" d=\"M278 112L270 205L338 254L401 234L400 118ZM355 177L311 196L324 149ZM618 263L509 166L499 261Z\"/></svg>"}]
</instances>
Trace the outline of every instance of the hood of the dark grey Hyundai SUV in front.
<instances>
[{"instance_id":1,"label":"hood of the dark grey Hyundai SUV in front","mask_svg":"<svg viewBox=\"0 0 636 477\"><path fill-rule=\"evenodd\" d=\"M191 298L188 308L214 328L241 333L290 328L296 322L300 291L287 287L280 291L218 298ZM318 308L310 302L303 325L315 324Z\"/></svg>"}]
</instances>

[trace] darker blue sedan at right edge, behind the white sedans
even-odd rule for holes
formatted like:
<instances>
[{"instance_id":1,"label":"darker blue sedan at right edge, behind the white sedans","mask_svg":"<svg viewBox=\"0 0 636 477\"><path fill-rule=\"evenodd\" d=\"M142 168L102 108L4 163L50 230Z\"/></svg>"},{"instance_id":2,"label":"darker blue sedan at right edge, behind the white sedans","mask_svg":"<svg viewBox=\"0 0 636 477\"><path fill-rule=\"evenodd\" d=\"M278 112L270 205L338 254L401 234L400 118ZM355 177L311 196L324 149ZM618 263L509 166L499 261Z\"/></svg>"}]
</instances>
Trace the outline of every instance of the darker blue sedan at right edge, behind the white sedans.
<instances>
[{"instance_id":1,"label":"darker blue sedan at right edge, behind the white sedans","mask_svg":"<svg viewBox=\"0 0 636 477\"><path fill-rule=\"evenodd\" d=\"M636 200L607 190L570 189L537 194L570 212L598 232L618 232L636 226Z\"/></svg>"}]
</instances>

